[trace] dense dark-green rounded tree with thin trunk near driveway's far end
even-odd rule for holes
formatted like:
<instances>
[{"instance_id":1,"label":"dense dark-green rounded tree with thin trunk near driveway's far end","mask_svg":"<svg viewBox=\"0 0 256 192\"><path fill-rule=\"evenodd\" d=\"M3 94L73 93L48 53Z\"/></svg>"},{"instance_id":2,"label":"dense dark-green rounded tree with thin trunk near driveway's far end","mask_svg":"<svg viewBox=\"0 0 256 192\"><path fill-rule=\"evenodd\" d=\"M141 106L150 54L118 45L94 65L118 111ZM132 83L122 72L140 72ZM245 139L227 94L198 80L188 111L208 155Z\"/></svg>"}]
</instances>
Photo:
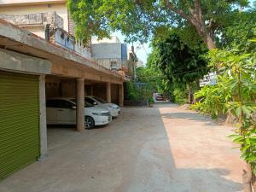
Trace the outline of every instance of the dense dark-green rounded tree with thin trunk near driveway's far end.
<instances>
[{"instance_id":1,"label":"dense dark-green rounded tree with thin trunk near driveway's far end","mask_svg":"<svg viewBox=\"0 0 256 192\"><path fill-rule=\"evenodd\" d=\"M199 84L199 79L208 72L207 61L202 57L207 49L200 45L189 47L177 32L171 32L166 39L154 38L152 46L153 52L148 57L148 65L160 69L172 86L187 85L191 102L191 84Z\"/></svg>"}]
</instances>

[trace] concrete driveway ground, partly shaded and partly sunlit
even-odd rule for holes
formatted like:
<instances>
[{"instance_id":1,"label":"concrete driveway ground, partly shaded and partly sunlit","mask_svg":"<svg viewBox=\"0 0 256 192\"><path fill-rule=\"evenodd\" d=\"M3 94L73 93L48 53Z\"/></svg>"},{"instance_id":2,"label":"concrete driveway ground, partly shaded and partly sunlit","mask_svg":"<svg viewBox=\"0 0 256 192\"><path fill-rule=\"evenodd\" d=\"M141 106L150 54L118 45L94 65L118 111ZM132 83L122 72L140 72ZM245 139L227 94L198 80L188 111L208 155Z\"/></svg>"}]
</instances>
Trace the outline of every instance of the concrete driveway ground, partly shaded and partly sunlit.
<instances>
[{"instance_id":1,"label":"concrete driveway ground, partly shaded and partly sunlit","mask_svg":"<svg viewBox=\"0 0 256 192\"><path fill-rule=\"evenodd\" d=\"M49 128L49 157L0 183L1 192L238 192L245 166L230 127L159 103L123 108L82 133Z\"/></svg>"}]
</instances>

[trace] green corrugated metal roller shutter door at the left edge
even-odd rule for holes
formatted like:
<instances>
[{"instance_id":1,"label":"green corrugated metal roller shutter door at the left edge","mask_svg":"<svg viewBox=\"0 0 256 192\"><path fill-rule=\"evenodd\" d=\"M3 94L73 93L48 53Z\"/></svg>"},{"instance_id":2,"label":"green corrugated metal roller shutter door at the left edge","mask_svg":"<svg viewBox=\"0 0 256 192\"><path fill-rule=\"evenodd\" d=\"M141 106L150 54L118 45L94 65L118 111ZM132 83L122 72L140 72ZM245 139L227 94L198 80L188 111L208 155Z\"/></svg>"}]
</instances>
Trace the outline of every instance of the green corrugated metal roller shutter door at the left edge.
<instances>
[{"instance_id":1,"label":"green corrugated metal roller shutter door at the left edge","mask_svg":"<svg viewBox=\"0 0 256 192\"><path fill-rule=\"evenodd\" d=\"M0 71L0 180L39 157L38 76Z\"/></svg>"}]
</instances>

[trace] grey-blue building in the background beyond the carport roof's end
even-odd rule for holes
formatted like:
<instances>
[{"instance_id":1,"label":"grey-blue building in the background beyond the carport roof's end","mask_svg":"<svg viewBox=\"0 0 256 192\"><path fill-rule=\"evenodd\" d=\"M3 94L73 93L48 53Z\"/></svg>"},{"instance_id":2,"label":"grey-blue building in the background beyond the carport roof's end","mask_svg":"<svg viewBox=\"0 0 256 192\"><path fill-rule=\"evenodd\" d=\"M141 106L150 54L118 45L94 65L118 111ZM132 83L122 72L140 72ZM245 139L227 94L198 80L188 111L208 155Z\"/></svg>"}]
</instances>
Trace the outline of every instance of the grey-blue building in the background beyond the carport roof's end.
<instances>
[{"instance_id":1,"label":"grey-blue building in the background beyond the carport roof's end","mask_svg":"<svg viewBox=\"0 0 256 192\"><path fill-rule=\"evenodd\" d=\"M112 37L102 40L94 39L91 43L92 58L94 61L113 71L127 71L127 45L122 44L119 38Z\"/></svg>"}]
</instances>

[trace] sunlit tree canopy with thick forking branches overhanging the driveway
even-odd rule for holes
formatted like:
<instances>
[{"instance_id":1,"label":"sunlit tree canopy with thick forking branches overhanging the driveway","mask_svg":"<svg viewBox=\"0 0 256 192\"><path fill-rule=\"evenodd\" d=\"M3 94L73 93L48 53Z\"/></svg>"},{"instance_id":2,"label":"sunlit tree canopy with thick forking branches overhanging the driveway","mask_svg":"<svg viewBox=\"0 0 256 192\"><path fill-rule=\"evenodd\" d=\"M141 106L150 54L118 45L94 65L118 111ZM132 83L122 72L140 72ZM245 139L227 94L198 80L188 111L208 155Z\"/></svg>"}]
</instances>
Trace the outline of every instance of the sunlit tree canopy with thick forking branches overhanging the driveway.
<instances>
[{"instance_id":1,"label":"sunlit tree canopy with thick forking branches overhanging the driveway","mask_svg":"<svg viewBox=\"0 0 256 192\"><path fill-rule=\"evenodd\" d=\"M229 16L247 0L68 0L77 37L109 37L120 30L128 41L147 41L162 26L193 26L208 49Z\"/></svg>"}]
</instances>

